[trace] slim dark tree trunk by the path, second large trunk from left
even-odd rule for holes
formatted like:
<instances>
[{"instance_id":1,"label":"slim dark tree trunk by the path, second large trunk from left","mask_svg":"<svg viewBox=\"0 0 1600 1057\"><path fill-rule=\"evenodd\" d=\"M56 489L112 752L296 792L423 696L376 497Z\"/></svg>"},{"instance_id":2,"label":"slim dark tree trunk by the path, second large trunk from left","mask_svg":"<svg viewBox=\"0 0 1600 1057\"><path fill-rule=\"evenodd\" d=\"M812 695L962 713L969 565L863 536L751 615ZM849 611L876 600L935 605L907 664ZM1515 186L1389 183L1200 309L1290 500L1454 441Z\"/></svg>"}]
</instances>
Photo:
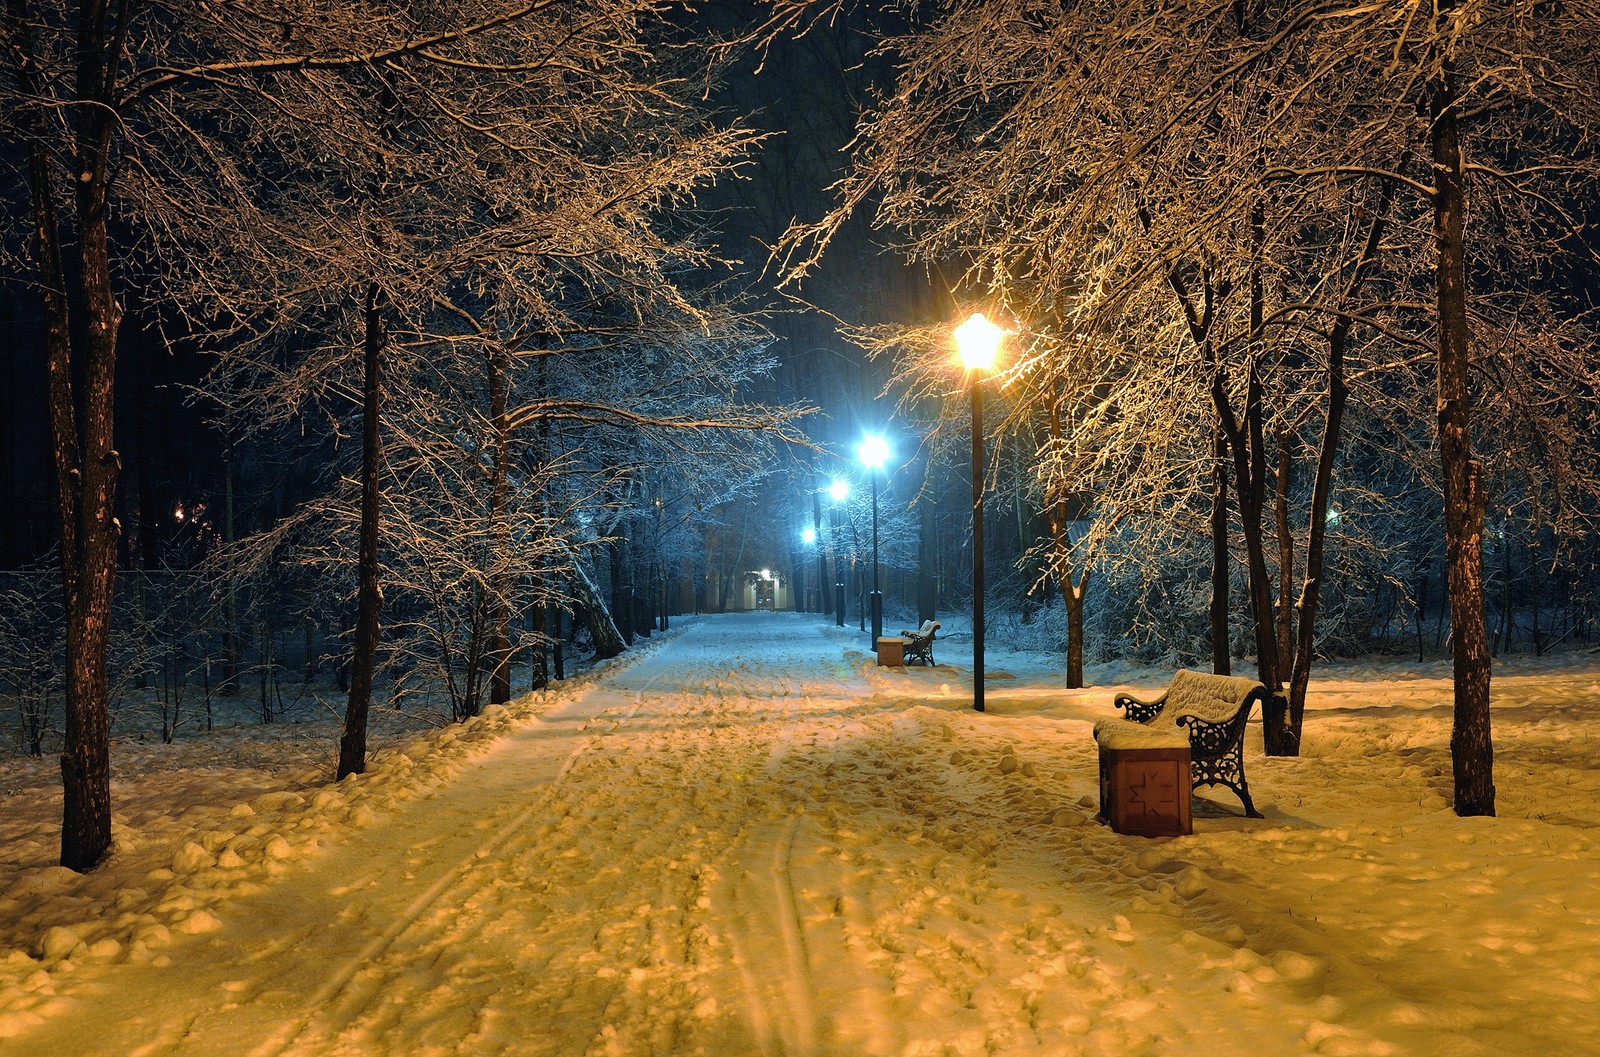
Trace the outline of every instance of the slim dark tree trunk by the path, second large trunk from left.
<instances>
[{"instance_id":1,"label":"slim dark tree trunk by the path, second large trunk from left","mask_svg":"<svg viewBox=\"0 0 1600 1057\"><path fill-rule=\"evenodd\" d=\"M366 339L362 349L362 528L357 555L355 641L350 648L350 697L344 707L336 777L366 771L366 716L373 704L373 670L378 664L379 611L378 584L378 499L382 449L378 435L381 353L386 341L378 283L366 286Z\"/></svg>"}]
</instances>

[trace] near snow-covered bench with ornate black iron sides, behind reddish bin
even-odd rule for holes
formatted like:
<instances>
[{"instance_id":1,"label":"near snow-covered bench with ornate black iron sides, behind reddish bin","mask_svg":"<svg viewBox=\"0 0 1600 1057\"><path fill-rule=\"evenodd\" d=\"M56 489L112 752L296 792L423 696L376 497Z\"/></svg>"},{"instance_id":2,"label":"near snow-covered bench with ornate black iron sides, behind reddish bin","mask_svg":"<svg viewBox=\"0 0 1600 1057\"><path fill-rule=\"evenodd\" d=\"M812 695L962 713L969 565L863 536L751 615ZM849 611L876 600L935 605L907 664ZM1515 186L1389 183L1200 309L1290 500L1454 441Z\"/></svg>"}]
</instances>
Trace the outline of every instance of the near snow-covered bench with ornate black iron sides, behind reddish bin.
<instances>
[{"instance_id":1,"label":"near snow-covered bench with ornate black iron sides, behind reddish bin","mask_svg":"<svg viewBox=\"0 0 1600 1057\"><path fill-rule=\"evenodd\" d=\"M1245 724L1266 699L1267 688L1254 680L1181 668L1155 700L1117 694L1112 704L1134 723L1182 728L1189 736L1194 788L1226 785L1245 804L1246 817L1261 819L1245 782Z\"/></svg>"}]
</instances>

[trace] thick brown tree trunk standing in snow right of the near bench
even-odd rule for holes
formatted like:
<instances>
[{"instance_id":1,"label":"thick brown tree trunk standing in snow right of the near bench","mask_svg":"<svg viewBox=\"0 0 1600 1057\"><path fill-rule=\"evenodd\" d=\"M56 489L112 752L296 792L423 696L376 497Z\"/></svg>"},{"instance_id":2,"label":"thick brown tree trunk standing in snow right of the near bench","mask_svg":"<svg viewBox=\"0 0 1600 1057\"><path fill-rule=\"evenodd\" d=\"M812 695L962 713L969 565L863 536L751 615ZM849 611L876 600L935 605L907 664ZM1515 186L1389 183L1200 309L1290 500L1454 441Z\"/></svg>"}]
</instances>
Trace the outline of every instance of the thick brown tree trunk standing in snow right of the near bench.
<instances>
[{"instance_id":1,"label":"thick brown tree trunk standing in snow right of the near bench","mask_svg":"<svg viewBox=\"0 0 1600 1057\"><path fill-rule=\"evenodd\" d=\"M1454 6L1438 0L1440 13ZM1472 457L1466 221L1467 190L1448 56L1429 83L1434 241L1438 249L1438 462L1445 483L1445 558L1456 707L1450 753L1458 816L1494 814L1490 652L1483 620L1483 493Z\"/></svg>"}]
</instances>

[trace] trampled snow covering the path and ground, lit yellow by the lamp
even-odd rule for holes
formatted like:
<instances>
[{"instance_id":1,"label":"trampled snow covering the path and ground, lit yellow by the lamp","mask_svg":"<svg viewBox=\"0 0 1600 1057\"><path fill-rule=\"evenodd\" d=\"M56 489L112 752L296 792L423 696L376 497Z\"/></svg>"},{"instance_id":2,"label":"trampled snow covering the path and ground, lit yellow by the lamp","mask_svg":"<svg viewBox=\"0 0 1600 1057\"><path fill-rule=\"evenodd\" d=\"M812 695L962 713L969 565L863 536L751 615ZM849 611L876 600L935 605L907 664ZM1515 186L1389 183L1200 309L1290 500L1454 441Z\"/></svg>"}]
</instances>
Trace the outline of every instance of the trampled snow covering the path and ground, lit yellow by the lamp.
<instances>
[{"instance_id":1,"label":"trampled snow covering the path and ground, lit yellow by the lamp","mask_svg":"<svg viewBox=\"0 0 1600 1057\"><path fill-rule=\"evenodd\" d=\"M1302 756L1251 724L1266 819L1147 840L1090 731L1168 672L990 646L979 715L958 633L864 646L685 620L338 785L331 718L120 740L86 876L6 758L0 1054L1600 1054L1600 657L1498 665L1499 817L1450 811L1448 665L1374 659Z\"/></svg>"}]
</instances>

